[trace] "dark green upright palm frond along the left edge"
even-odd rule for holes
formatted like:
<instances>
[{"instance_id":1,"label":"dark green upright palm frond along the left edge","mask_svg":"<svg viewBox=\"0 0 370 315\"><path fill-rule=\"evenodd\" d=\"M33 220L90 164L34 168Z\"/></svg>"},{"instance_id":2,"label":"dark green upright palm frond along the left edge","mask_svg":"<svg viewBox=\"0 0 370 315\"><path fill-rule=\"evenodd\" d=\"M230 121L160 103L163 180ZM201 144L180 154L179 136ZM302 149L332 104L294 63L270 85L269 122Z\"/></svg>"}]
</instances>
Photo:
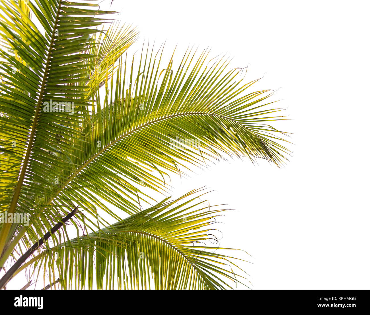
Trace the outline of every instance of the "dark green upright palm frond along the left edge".
<instances>
[{"instance_id":1,"label":"dark green upright palm frond along the left edge","mask_svg":"<svg viewBox=\"0 0 370 315\"><path fill-rule=\"evenodd\" d=\"M2 210L9 207L14 213L19 204L21 210L33 207L31 196L55 188L53 179L70 164L64 152L73 144L75 126L90 104L85 97L87 69L81 66L92 55L81 52L95 45L91 34L100 31L91 27L105 21L94 16L111 13L80 8L98 7L91 2L0 4ZM26 6L42 30L23 11ZM40 173L51 164L54 169L48 176ZM10 223L1 228L0 252L10 229Z\"/></svg>"}]
</instances>

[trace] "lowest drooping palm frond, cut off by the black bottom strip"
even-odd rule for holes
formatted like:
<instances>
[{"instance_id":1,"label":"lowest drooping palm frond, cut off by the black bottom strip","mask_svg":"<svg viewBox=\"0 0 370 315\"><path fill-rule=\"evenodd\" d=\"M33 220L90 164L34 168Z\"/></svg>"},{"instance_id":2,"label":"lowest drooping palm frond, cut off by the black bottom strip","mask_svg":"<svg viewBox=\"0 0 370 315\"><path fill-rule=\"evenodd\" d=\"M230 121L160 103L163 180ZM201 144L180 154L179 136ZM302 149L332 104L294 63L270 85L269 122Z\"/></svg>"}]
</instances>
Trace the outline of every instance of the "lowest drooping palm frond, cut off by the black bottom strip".
<instances>
[{"instance_id":1,"label":"lowest drooping palm frond, cut off by the black bottom strip","mask_svg":"<svg viewBox=\"0 0 370 315\"><path fill-rule=\"evenodd\" d=\"M246 282L235 259L226 256L233 249L207 246L217 241L210 225L222 210L199 201L199 193L166 198L43 252L34 279L42 267L44 285L60 279L64 289L225 289Z\"/></svg>"}]
</instances>

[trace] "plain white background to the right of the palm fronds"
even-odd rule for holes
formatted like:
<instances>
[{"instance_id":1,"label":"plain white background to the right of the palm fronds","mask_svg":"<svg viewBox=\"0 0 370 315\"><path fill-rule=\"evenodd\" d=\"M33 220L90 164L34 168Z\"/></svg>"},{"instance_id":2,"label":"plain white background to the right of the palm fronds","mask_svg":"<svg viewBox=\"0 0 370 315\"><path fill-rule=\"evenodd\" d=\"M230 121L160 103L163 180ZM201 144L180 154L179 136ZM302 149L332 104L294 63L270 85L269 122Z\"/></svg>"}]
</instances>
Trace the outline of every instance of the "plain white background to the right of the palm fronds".
<instances>
[{"instance_id":1,"label":"plain white background to the right of the palm fronds","mask_svg":"<svg viewBox=\"0 0 370 315\"><path fill-rule=\"evenodd\" d=\"M107 5L105 5L107 4ZM108 7L110 1L101 5ZM368 1L119 1L141 38L212 47L249 64L246 80L281 89L292 120L290 162L217 163L172 180L174 195L206 186L228 203L221 246L245 249L254 289L369 289ZM137 48L141 47L142 41ZM250 81L249 80L249 81ZM248 81L248 82L249 82ZM240 287L242 288L242 287Z\"/></svg>"}]
</instances>

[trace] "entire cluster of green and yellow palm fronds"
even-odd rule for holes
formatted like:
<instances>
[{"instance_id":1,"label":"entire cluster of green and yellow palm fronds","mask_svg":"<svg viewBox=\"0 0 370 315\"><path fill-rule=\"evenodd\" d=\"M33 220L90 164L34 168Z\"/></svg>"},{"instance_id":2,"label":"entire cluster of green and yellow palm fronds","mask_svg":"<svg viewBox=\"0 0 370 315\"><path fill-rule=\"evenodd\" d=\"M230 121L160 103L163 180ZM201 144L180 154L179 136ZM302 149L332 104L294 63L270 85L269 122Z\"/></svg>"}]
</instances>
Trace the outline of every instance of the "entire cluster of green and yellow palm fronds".
<instances>
[{"instance_id":1,"label":"entire cluster of green and yellow palm fronds","mask_svg":"<svg viewBox=\"0 0 370 315\"><path fill-rule=\"evenodd\" d=\"M208 236L191 231L215 212L182 222L173 202L145 212L141 202L152 204L148 191L163 192L171 173L214 159L281 165L284 133L270 125L281 109L268 99L273 91L249 92L258 80L243 83L242 69L209 50L188 49L163 66L163 48L148 44L131 59L136 30L103 31L107 13L94 0L0 3L0 211L31 214L30 226L0 223L0 267L78 205L72 224L88 235L61 243L61 229L59 260L36 256L58 267L63 288L91 288L93 270L99 288L112 287L115 274L120 288L149 286L149 275L155 288L225 288L234 274L219 268L222 255L194 246ZM98 208L118 223L101 226Z\"/></svg>"}]
</instances>

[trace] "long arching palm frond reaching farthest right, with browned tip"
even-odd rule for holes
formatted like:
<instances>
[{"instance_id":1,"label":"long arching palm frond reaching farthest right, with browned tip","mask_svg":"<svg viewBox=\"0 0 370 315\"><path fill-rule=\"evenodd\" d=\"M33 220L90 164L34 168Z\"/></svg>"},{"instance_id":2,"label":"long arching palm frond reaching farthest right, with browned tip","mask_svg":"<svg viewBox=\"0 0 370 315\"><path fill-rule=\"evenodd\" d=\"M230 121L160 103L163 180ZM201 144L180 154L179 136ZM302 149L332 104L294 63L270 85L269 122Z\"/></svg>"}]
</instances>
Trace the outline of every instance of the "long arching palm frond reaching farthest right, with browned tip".
<instances>
[{"instance_id":1,"label":"long arching palm frond reaching farthest right, with browned tip","mask_svg":"<svg viewBox=\"0 0 370 315\"><path fill-rule=\"evenodd\" d=\"M120 63L122 69L110 80L115 92L106 87L104 103L97 97L84 149L72 153L76 158L64 170L54 200L78 202L94 193L128 212L134 211L138 194L150 197L139 187L159 191L169 173L190 164L201 167L224 156L283 163L288 150L279 142L286 141L284 133L269 125L282 119L275 114L282 109L265 103L273 91L245 93L257 80L240 84L240 70L225 71L225 60L203 67L207 52L191 67L194 57L187 52L174 71L172 60L162 70L156 62L160 56L144 53L137 76L135 60L129 72L127 62Z\"/></svg>"}]
</instances>

